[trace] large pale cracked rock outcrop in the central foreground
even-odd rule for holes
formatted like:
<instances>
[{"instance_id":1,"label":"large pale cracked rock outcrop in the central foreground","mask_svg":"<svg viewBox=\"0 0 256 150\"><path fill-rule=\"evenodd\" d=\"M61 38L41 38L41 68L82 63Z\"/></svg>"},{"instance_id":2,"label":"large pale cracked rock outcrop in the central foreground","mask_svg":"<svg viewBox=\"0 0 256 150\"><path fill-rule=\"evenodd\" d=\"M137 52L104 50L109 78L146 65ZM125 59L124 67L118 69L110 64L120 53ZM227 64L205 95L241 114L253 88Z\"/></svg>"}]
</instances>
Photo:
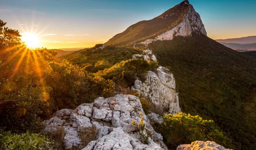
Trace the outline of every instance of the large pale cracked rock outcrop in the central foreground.
<instances>
[{"instance_id":1,"label":"large pale cracked rock outcrop in the central foreground","mask_svg":"<svg viewBox=\"0 0 256 150\"><path fill-rule=\"evenodd\" d=\"M141 143L141 136L131 122L140 122L142 113L148 132L148 144ZM62 109L53 118L43 122L44 131L55 134L64 129L65 149L82 149L84 133L95 130L96 139L89 142L84 150L100 149L150 149L164 150L161 134L154 131L144 114L139 98L133 95L99 97L90 104L81 104L75 110ZM88 136L89 138L89 136Z\"/></svg>"}]
</instances>

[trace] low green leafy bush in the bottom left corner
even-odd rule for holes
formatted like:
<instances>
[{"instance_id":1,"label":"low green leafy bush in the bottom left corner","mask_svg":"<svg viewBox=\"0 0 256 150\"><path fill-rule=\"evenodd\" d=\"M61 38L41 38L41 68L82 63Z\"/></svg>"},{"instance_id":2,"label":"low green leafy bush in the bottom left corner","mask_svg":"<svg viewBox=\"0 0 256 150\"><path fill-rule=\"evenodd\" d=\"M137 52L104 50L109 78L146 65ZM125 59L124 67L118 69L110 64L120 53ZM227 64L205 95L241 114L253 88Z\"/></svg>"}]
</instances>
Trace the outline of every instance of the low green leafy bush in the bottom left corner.
<instances>
[{"instance_id":1,"label":"low green leafy bush in the bottom left corner","mask_svg":"<svg viewBox=\"0 0 256 150\"><path fill-rule=\"evenodd\" d=\"M54 142L40 134L12 134L11 131L0 131L1 150L51 150Z\"/></svg>"}]
</instances>

